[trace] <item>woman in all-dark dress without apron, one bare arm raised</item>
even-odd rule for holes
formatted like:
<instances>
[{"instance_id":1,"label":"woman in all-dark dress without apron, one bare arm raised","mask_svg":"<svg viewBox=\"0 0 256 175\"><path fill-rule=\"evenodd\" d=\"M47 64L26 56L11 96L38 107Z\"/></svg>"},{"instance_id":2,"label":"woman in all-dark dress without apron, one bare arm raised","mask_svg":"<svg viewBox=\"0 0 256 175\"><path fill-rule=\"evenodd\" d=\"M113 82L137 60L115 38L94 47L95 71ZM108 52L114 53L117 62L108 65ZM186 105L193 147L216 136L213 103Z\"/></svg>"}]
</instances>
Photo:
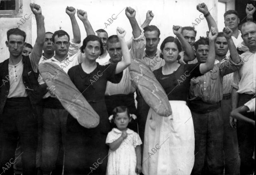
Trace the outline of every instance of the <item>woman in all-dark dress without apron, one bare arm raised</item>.
<instances>
[{"instance_id":1,"label":"woman in all-dark dress without apron, one bare arm raised","mask_svg":"<svg viewBox=\"0 0 256 175\"><path fill-rule=\"evenodd\" d=\"M121 43L123 60L116 64L102 66L95 60L103 52L102 42L95 35L83 40L81 52L85 53L83 62L68 71L72 82L100 116L100 124L88 129L79 125L71 115L67 119L64 174L92 175L106 174L108 147L105 144L110 125L104 102L107 81L119 83L122 72L130 65L130 53L122 28L116 29Z\"/></svg>"}]
</instances>

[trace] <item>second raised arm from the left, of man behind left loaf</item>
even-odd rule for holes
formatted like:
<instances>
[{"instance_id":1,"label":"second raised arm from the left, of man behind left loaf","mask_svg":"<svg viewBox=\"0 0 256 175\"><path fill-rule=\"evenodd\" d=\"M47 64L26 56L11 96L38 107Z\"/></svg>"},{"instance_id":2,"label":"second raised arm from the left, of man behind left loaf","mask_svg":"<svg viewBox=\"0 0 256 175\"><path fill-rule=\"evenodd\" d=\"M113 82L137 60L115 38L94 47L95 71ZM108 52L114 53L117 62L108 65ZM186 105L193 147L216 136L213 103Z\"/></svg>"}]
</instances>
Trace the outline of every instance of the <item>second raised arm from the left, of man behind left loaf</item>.
<instances>
[{"instance_id":1,"label":"second raised arm from the left, of man behind left loaf","mask_svg":"<svg viewBox=\"0 0 256 175\"><path fill-rule=\"evenodd\" d=\"M74 7L66 7L66 14L69 15L71 24L72 24L72 31L73 31L73 43L80 43L81 42L81 33L80 28L76 21L76 9Z\"/></svg>"}]
</instances>

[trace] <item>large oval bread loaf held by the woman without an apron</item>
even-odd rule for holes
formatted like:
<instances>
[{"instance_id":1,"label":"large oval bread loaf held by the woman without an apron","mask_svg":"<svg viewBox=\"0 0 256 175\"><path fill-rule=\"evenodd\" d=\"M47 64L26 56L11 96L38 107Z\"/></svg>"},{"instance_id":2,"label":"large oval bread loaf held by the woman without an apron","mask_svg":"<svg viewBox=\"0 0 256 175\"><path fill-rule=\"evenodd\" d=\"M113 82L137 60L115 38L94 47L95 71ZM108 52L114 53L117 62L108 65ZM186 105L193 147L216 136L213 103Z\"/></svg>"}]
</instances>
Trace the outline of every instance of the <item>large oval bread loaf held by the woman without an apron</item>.
<instances>
[{"instance_id":1,"label":"large oval bread loaf held by the woman without an apron","mask_svg":"<svg viewBox=\"0 0 256 175\"><path fill-rule=\"evenodd\" d=\"M38 70L48 87L55 85L56 97L80 125L85 128L95 128L100 123L100 116L57 64L42 63L38 66Z\"/></svg>"}]
</instances>

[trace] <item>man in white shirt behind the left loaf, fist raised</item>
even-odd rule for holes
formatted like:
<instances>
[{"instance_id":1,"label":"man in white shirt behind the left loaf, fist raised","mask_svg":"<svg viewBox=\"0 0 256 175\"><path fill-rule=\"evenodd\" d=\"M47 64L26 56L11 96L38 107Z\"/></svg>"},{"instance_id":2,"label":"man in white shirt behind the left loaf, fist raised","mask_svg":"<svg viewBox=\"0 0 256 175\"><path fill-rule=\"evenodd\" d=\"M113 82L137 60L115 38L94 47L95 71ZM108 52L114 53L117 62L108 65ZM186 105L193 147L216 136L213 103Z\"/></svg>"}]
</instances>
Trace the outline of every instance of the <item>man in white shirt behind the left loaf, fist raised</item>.
<instances>
[{"instance_id":1,"label":"man in white shirt behind the left loaf, fist raised","mask_svg":"<svg viewBox=\"0 0 256 175\"><path fill-rule=\"evenodd\" d=\"M52 48L55 51L55 55L49 59L44 59L42 62L55 63L67 73L72 66L78 65L76 52L78 52L81 35L75 18L76 9L67 7L66 13L71 18L73 34L74 31L76 31L76 35L74 34L73 39L73 42L76 43L73 44L73 49L69 49L71 45L69 42L69 34L63 30L55 31L52 35L52 41L48 41L49 45L51 42L53 43ZM39 84L43 83L43 80L39 79ZM66 119L69 113L64 109L59 100L51 96L49 92L47 92L43 98L41 170L43 171L43 175L50 175L50 173L55 170L55 163L58 163L57 158L59 161L62 161L60 164L63 165L63 151L62 154L58 155L58 153L61 151L65 142ZM59 166L59 169L61 167L62 166ZM60 171L62 172L62 169Z\"/></svg>"}]
</instances>

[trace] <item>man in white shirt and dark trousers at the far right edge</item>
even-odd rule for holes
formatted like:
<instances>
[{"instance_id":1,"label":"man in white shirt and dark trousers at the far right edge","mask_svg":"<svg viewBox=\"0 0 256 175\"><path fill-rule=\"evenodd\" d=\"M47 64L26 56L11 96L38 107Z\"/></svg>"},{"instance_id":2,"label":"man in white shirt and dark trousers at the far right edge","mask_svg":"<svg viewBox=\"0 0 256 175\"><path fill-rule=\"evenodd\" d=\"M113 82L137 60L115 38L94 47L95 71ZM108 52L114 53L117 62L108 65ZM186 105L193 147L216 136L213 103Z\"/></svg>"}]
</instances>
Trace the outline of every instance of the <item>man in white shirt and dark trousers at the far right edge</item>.
<instances>
[{"instance_id":1,"label":"man in white shirt and dark trousers at the far right edge","mask_svg":"<svg viewBox=\"0 0 256 175\"><path fill-rule=\"evenodd\" d=\"M241 54L244 65L234 73L234 84L232 87L237 90L232 92L232 110L237 106L242 106L255 97L256 89L256 24L247 21L241 28L242 38L249 48L247 52ZM234 89L233 89L234 91ZM248 118L255 120L254 113L244 114ZM233 118L230 124L234 127ZM240 174L247 175L254 172L254 160L251 158L254 152L254 132L255 128L244 121L237 121L237 138L240 150Z\"/></svg>"}]
</instances>

